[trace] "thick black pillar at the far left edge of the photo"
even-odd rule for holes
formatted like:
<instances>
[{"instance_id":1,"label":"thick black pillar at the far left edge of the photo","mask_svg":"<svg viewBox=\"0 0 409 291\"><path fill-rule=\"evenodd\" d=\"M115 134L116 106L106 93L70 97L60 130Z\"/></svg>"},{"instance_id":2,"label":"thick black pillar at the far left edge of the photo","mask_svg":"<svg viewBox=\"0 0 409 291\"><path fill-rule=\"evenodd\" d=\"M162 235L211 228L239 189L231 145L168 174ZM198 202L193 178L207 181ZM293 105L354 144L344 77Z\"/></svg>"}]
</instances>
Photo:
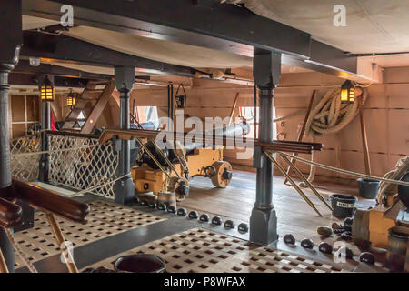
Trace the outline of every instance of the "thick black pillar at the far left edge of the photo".
<instances>
[{"instance_id":1,"label":"thick black pillar at the far left edge of the photo","mask_svg":"<svg viewBox=\"0 0 409 291\"><path fill-rule=\"evenodd\" d=\"M0 196L2 189L11 186L10 119L8 112L8 74L18 62L23 43L21 1L3 1L0 9ZM15 270L15 254L5 231L0 227L0 248L8 270Z\"/></svg>"}]
</instances>

